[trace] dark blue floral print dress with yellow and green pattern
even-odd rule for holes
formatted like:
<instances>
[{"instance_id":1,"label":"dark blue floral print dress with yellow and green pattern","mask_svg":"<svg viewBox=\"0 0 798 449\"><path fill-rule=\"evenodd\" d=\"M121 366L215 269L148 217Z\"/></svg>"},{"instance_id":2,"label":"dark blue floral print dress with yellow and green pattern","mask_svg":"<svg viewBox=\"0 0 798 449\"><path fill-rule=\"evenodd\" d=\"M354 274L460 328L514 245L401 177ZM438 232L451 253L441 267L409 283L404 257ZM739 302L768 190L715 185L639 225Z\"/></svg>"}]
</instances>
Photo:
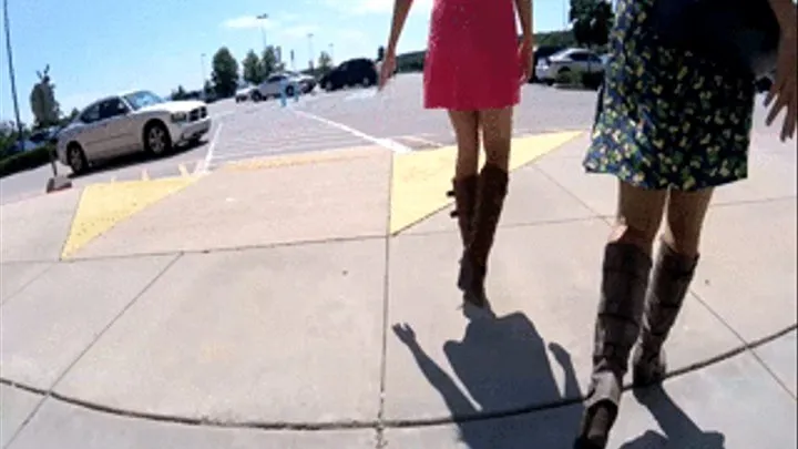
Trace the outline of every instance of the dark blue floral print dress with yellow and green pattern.
<instances>
[{"instance_id":1,"label":"dark blue floral print dress with yellow and green pattern","mask_svg":"<svg viewBox=\"0 0 798 449\"><path fill-rule=\"evenodd\" d=\"M747 176L753 76L663 48L657 0L618 0L604 93L584 159L646 190L697 191Z\"/></svg>"}]
</instances>

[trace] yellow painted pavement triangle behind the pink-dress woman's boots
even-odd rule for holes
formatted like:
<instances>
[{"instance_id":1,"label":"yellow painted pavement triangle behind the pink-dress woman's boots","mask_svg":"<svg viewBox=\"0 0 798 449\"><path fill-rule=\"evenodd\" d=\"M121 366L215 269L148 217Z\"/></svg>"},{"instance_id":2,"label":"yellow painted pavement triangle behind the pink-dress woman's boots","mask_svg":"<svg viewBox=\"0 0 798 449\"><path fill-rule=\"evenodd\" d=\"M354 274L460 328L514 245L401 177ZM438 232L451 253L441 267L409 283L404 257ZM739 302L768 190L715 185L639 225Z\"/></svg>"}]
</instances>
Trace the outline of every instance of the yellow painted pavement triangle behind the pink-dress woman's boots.
<instances>
[{"instance_id":1,"label":"yellow painted pavement triangle behind the pink-dress woman's boots","mask_svg":"<svg viewBox=\"0 0 798 449\"><path fill-rule=\"evenodd\" d=\"M570 131L513 139L510 170L526 165L582 134L583 131ZM457 146L393 156L391 235L451 204L446 192L451 190L456 156Z\"/></svg>"}]
</instances>

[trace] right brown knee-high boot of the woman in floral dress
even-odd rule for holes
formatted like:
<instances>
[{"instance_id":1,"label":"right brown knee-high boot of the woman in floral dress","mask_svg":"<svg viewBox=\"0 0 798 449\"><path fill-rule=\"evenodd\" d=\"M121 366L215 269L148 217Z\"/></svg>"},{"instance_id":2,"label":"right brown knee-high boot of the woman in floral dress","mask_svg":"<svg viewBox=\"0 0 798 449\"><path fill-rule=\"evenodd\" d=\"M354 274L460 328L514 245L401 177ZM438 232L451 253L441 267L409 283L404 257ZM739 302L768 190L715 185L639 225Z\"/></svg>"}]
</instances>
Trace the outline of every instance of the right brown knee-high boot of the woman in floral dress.
<instances>
[{"instance_id":1,"label":"right brown knee-high boot of the woman in floral dress","mask_svg":"<svg viewBox=\"0 0 798 449\"><path fill-rule=\"evenodd\" d=\"M698 256L684 256L661 243L645 300L643 328L635 347L632 378L635 386L656 384L665 376L663 344L687 296Z\"/></svg>"}]
</instances>

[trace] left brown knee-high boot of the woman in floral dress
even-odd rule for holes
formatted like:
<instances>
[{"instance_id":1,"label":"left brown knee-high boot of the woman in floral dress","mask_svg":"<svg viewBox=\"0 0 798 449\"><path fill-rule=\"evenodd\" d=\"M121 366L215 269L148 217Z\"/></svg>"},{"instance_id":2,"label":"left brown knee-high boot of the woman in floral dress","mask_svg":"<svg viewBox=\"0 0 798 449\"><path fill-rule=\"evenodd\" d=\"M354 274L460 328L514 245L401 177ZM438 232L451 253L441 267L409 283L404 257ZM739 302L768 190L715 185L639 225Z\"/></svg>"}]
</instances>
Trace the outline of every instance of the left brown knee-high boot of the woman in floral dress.
<instances>
[{"instance_id":1,"label":"left brown knee-high boot of the woman in floral dress","mask_svg":"<svg viewBox=\"0 0 798 449\"><path fill-rule=\"evenodd\" d=\"M630 353L640 335L651 267L651 257L634 245L611 243L604 249L593 375L576 449L606 447L617 417Z\"/></svg>"}]
</instances>

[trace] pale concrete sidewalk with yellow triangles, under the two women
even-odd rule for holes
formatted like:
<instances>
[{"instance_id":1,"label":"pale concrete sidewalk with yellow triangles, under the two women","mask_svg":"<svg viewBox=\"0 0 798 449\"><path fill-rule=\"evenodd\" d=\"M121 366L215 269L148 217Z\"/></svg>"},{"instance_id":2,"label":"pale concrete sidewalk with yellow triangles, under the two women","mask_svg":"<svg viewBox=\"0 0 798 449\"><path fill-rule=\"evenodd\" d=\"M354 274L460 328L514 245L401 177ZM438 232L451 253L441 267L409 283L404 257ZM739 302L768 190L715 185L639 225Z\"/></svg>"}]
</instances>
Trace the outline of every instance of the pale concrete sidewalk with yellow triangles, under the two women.
<instances>
[{"instance_id":1,"label":"pale concrete sidewalk with yellow triangles, under the two women","mask_svg":"<svg viewBox=\"0 0 798 449\"><path fill-rule=\"evenodd\" d=\"M518 142L495 317L454 288L451 149L2 206L0 447L569 448L614 213L585 145ZM798 443L796 213L795 149L755 134L750 178L712 207L673 377L625 395L612 448Z\"/></svg>"}]
</instances>

